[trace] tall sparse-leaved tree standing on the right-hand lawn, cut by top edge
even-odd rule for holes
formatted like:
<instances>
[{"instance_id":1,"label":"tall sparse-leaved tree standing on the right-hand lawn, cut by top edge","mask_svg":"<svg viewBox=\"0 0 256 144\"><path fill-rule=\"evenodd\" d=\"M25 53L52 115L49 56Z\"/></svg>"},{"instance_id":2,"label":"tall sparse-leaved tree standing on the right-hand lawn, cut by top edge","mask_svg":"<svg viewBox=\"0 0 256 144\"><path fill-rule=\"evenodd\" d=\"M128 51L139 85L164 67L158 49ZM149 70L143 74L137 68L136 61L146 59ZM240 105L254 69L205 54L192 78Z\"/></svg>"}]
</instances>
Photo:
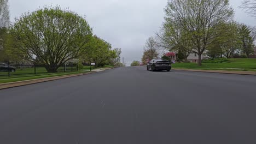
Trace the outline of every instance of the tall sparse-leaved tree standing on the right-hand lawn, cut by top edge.
<instances>
[{"instance_id":1,"label":"tall sparse-leaved tree standing on the right-hand lawn, cut by top edge","mask_svg":"<svg viewBox=\"0 0 256 144\"><path fill-rule=\"evenodd\" d=\"M201 65L202 54L218 37L219 25L232 19L233 9L228 0L170 0L165 13L162 38L170 48L197 53Z\"/></svg>"}]
</instances>

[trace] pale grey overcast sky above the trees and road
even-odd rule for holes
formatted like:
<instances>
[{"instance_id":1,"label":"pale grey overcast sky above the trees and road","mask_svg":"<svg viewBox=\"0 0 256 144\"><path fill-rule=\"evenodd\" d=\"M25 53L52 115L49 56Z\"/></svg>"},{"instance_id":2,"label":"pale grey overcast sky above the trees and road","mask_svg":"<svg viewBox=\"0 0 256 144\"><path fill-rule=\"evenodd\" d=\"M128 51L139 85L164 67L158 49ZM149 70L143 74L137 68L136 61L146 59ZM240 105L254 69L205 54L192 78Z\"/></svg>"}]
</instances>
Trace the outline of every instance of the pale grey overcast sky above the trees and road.
<instances>
[{"instance_id":1,"label":"pale grey overcast sky above the trees and road","mask_svg":"<svg viewBox=\"0 0 256 144\"><path fill-rule=\"evenodd\" d=\"M237 8L241 2L230 1L235 20L255 26L256 19ZM161 27L166 4L167 0L9 0L12 22L22 13L44 5L60 5L86 16L94 34L109 41L113 48L122 49L127 65L141 60L146 40Z\"/></svg>"}]
</instances>

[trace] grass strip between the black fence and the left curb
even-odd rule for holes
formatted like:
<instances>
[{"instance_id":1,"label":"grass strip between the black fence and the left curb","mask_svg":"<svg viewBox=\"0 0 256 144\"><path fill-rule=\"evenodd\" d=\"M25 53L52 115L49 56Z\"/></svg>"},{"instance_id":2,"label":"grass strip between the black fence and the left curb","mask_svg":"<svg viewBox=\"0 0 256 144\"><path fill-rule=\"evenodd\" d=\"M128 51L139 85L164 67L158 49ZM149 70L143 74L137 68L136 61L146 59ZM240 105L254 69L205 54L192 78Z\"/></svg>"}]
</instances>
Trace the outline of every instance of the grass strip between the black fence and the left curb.
<instances>
[{"instance_id":1,"label":"grass strip between the black fence and the left curb","mask_svg":"<svg viewBox=\"0 0 256 144\"><path fill-rule=\"evenodd\" d=\"M104 67L98 67L97 69L103 69L103 68L112 68L112 66L106 65ZM26 70L25 70L26 69ZM25 68L25 71L30 71L32 68ZM43 68L41 69L44 70ZM17 71L18 72L18 71ZM11 75L10 77L6 75L7 72L1 72L5 73L4 76L0 76L0 83L8 83L8 82L17 82L17 81L25 81L25 80L34 80L34 79L42 79L46 77L54 77L54 76L63 76L63 75L72 75L72 74L82 74L82 73L88 73L90 72L90 66L85 66L82 70L79 71L67 71L67 72L60 72L60 73L37 73L36 75L33 73L19 73L15 75Z\"/></svg>"}]
</instances>

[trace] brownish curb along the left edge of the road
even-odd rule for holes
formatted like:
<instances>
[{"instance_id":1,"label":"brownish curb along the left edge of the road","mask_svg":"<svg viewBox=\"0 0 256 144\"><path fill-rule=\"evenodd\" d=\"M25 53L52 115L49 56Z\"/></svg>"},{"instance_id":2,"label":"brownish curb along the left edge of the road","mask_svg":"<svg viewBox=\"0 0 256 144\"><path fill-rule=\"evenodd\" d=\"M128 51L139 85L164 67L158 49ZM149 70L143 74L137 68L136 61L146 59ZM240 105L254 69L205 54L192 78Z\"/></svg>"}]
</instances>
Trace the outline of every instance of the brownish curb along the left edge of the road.
<instances>
[{"instance_id":1,"label":"brownish curb along the left edge of the road","mask_svg":"<svg viewBox=\"0 0 256 144\"><path fill-rule=\"evenodd\" d=\"M0 89L5 88L12 88L12 87L19 87L19 86L26 86L31 85L34 83L41 83L41 82L47 82L47 81L54 81L54 80L60 80L60 79L67 79L69 77L75 77L75 76L81 76L81 75L88 75L96 72L89 72L84 74L73 74L73 75L63 75L63 76L54 76L54 77L46 77L42 79L34 79L34 80L26 80L26 81L18 81L18 82L9 82L9 83L2 83L0 84Z\"/></svg>"}]
</instances>

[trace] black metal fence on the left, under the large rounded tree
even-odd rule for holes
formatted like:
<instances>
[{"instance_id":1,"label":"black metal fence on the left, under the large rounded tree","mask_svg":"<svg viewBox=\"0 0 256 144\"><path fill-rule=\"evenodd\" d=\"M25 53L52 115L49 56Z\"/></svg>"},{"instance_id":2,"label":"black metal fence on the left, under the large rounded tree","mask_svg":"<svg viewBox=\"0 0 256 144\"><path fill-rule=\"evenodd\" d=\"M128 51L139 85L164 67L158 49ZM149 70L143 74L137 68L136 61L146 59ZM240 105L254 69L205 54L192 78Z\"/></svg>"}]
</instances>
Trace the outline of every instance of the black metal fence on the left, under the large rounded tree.
<instances>
[{"instance_id":1,"label":"black metal fence on the left, under the large rounded tree","mask_svg":"<svg viewBox=\"0 0 256 144\"><path fill-rule=\"evenodd\" d=\"M71 73L78 71L77 64L62 65L57 69L57 73ZM44 65L19 65L19 64L5 64L0 63L0 79L4 77L20 77L31 76L40 74L53 74L48 73Z\"/></svg>"}]
</instances>

